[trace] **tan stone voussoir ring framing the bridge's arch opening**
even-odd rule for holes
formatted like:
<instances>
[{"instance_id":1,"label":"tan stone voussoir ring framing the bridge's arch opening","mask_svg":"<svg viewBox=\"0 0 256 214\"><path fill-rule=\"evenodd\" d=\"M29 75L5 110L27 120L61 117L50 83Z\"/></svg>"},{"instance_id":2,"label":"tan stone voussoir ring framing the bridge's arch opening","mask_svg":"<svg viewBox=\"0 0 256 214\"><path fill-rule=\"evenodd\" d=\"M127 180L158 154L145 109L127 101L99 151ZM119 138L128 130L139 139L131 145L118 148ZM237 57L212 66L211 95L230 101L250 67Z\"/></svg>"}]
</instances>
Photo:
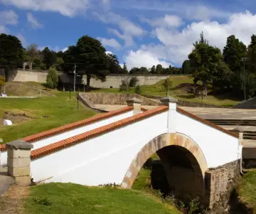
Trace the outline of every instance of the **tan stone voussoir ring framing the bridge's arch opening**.
<instances>
[{"instance_id":1,"label":"tan stone voussoir ring framing the bridge's arch opening","mask_svg":"<svg viewBox=\"0 0 256 214\"><path fill-rule=\"evenodd\" d=\"M132 188L132 184L137 178L137 174L139 173L140 169L146 163L146 160L155 154L159 149L172 145L186 148L191 152L191 154L193 154L193 156L195 156L204 178L205 172L208 170L208 166L205 156L196 142L190 137L181 133L161 134L149 141L133 159L132 164L129 166L129 169L122 181L122 188Z\"/></svg>"}]
</instances>

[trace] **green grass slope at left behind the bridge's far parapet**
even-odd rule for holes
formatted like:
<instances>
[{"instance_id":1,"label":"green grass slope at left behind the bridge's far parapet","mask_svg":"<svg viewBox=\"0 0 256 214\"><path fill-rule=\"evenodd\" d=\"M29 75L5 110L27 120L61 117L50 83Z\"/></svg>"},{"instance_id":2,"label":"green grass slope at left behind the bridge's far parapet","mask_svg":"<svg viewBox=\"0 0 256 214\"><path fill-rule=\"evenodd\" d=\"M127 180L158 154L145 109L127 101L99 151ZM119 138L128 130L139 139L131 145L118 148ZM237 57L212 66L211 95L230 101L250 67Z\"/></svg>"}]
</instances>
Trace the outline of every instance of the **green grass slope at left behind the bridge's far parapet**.
<instances>
[{"instance_id":1,"label":"green grass slope at left behind the bridge's far parapet","mask_svg":"<svg viewBox=\"0 0 256 214\"><path fill-rule=\"evenodd\" d=\"M0 98L0 138L4 143L75 122L95 114L79 103L75 93L51 92L55 97ZM2 119L11 119L12 126L1 126Z\"/></svg>"}]
</instances>

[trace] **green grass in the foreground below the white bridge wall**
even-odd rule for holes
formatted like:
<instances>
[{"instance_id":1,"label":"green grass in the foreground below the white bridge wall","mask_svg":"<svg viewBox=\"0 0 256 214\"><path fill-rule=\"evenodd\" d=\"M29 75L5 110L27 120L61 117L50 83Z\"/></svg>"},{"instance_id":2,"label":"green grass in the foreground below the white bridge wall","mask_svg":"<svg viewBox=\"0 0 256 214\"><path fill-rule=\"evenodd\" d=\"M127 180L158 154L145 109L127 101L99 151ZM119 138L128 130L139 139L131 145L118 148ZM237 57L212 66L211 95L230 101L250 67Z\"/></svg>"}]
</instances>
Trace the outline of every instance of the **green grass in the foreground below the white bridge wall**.
<instances>
[{"instance_id":1,"label":"green grass in the foreground below the white bridge wall","mask_svg":"<svg viewBox=\"0 0 256 214\"><path fill-rule=\"evenodd\" d=\"M139 191L48 183L30 188L23 203L27 214L178 214L158 198Z\"/></svg>"}]
</instances>

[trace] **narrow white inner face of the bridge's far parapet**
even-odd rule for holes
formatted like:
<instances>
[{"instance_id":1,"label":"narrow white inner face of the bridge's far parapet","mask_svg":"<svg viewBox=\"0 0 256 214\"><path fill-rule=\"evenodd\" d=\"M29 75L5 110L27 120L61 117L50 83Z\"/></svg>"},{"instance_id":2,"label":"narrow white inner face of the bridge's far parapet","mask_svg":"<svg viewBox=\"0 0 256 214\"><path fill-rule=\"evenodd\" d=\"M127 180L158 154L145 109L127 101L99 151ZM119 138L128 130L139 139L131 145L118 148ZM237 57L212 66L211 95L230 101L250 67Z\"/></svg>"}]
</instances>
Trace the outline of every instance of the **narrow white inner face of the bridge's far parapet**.
<instances>
[{"instance_id":1,"label":"narrow white inner face of the bridge's far parapet","mask_svg":"<svg viewBox=\"0 0 256 214\"><path fill-rule=\"evenodd\" d=\"M43 146L48 146L48 145L53 144L55 142L61 141L63 139L67 139L69 137L73 137L73 136L78 135L78 134L82 134L84 132L88 132L92 129L96 129L96 128L105 126L105 125L110 124L112 122L117 122L120 119L125 119L127 117L131 117L132 115L133 115L133 110L129 111L129 112L126 112L124 114L119 114L117 116L110 117L108 119L103 119L99 122L95 122L95 123L86 125L84 127L80 127L80 128L77 128L77 129L70 130L68 132L64 132L64 133L61 133L61 134L56 134L56 135L54 135L52 137L48 137L46 139L41 139L39 141L35 141L35 142L33 142L33 149L32 150L39 149ZM3 166L5 164L7 164L7 151L4 151L4 152L0 151L0 166Z\"/></svg>"}]
</instances>

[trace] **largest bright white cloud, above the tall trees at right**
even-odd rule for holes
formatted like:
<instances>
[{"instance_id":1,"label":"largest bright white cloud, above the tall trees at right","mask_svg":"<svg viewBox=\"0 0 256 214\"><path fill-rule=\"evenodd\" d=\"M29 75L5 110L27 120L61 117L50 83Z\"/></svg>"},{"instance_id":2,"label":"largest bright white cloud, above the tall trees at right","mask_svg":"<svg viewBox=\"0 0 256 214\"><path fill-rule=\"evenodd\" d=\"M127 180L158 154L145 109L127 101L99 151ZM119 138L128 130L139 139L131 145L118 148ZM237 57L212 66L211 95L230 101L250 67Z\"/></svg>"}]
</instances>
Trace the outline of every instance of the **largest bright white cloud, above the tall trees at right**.
<instances>
[{"instance_id":1,"label":"largest bright white cloud, above the tall trees at right","mask_svg":"<svg viewBox=\"0 0 256 214\"><path fill-rule=\"evenodd\" d=\"M198 21L189 24L180 31L172 28L156 27L154 28L154 35L161 41L161 44L141 46L135 53L137 55L139 53L149 53L157 60L162 59L181 65L188 58L188 54L193 49L193 43L198 41L202 31L211 46L216 46L222 50L227 37L230 35L235 35L245 45L248 45L250 37L255 33L255 28L256 15L249 11L233 14L226 23ZM129 53L126 58L128 60L132 59L132 61L136 60L134 59L134 52ZM138 61L136 60L136 62ZM148 64L151 65L150 62Z\"/></svg>"}]
</instances>

